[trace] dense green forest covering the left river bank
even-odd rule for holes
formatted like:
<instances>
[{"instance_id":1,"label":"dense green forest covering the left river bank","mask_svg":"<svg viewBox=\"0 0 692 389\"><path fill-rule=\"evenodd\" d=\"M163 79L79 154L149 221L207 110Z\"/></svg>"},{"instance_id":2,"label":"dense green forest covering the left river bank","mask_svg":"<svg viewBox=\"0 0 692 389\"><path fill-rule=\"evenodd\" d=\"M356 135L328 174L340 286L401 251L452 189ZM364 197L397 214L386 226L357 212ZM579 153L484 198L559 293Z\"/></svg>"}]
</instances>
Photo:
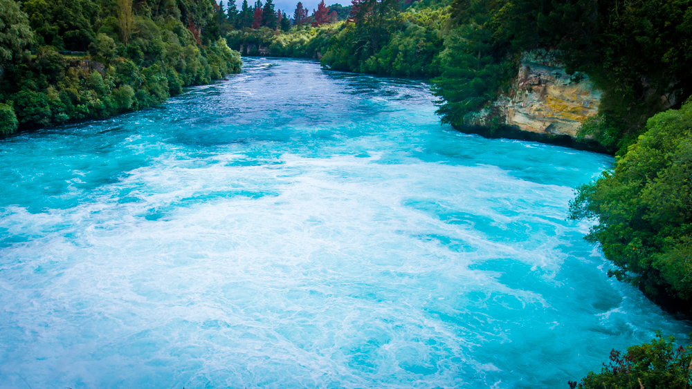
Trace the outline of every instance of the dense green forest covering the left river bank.
<instances>
[{"instance_id":1,"label":"dense green forest covering the left river bank","mask_svg":"<svg viewBox=\"0 0 692 389\"><path fill-rule=\"evenodd\" d=\"M240 70L212 0L0 0L0 134L161 104Z\"/></svg>"}]
</instances>

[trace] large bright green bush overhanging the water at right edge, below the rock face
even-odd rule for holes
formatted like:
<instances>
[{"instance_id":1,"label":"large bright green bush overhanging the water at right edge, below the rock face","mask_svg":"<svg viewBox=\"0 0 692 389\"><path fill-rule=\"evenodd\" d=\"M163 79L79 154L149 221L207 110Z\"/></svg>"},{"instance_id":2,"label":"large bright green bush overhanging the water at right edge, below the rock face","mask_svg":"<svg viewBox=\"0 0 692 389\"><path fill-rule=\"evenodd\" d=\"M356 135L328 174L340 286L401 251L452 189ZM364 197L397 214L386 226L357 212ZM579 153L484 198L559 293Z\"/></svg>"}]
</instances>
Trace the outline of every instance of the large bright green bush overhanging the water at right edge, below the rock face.
<instances>
[{"instance_id":1,"label":"large bright green bush overhanging the water at right edge, below the rock face","mask_svg":"<svg viewBox=\"0 0 692 389\"><path fill-rule=\"evenodd\" d=\"M573 219L595 219L586 239L600 243L620 281L654 301L692 301L692 102L658 113L613 171L579 188Z\"/></svg>"}]
</instances>

